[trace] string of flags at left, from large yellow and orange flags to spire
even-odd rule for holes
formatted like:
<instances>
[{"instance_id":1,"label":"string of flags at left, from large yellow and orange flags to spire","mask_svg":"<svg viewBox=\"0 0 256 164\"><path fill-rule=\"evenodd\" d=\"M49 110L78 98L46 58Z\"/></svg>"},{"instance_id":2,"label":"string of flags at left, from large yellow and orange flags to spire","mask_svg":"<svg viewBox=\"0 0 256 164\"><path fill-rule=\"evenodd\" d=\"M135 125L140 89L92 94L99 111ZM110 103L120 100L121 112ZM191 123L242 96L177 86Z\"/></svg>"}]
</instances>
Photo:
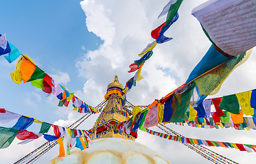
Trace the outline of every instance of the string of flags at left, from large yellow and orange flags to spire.
<instances>
[{"instance_id":1,"label":"string of flags at left, from large yellow and orange flags to spire","mask_svg":"<svg viewBox=\"0 0 256 164\"><path fill-rule=\"evenodd\" d=\"M22 55L16 63L16 68L14 72L11 73L12 81L17 84L30 82L34 87L38 87L47 93L49 96L52 94L57 97L60 102L59 107L65 105L68 107L69 102L73 103L73 110L77 110L80 113L99 113L99 109L95 109L85 102L80 100L74 95L74 92L69 92L64 86L60 85L54 79L52 79L43 70L38 68L34 61L30 59L27 55Z\"/></svg>"}]
</instances>

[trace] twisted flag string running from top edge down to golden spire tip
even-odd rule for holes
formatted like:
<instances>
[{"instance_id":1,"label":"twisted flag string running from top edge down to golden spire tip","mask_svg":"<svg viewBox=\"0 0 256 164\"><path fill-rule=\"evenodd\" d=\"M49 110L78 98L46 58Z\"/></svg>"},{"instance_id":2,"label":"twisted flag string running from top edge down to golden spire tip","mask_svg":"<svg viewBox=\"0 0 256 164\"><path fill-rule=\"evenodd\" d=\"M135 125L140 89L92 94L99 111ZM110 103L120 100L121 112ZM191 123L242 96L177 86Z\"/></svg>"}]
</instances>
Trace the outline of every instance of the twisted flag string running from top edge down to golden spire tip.
<instances>
[{"instance_id":1,"label":"twisted flag string running from top edge down to golden spire tip","mask_svg":"<svg viewBox=\"0 0 256 164\"><path fill-rule=\"evenodd\" d=\"M161 16L166 16L166 21L156 29L152 30L151 36L154 38L154 41L149 43L141 53L139 53L139 57L141 59L135 60L133 64L130 64L129 68L130 70L128 72L137 72L135 73L135 76L129 79L126 82L126 86L124 87L124 90L122 91L123 98L126 100L126 94L131 90L132 85L136 86L136 81L140 81L143 79L141 76L141 68L143 67L143 64L145 64L145 61L150 59L150 57L153 54L152 49L156 46L156 44L162 44L164 42L172 40L172 38L168 38L164 36L163 34L167 29L170 28L170 26L178 20L178 8L180 7L183 0L170 0L167 5L163 8L163 11L161 14L159 14L158 18Z\"/></svg>"}]
</instances>

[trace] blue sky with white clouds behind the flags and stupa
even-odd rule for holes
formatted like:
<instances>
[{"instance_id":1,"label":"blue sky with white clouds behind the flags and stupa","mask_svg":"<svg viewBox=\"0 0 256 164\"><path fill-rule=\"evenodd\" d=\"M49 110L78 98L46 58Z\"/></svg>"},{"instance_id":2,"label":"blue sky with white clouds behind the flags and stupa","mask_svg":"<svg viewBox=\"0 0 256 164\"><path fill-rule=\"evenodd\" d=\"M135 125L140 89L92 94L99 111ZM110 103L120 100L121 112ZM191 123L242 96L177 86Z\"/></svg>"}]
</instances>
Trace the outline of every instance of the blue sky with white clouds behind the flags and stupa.
<instances>
[{"instance_id":1,"label":"blue sky with white clouds behind the flags and stupa","mask_svg":"<svg viewBox=\"0 0 256 164\"><path fill-rule=\"evenodd\" d=\"M67 87L75 96L95 107L104 100L106 87L117 74L119 82L134 76L128 73L129 65L153 39L150 36L165 21L157 19L168 0L84 0L84 1L5 1L1 3L0 33L6 33L9 42L21 53L28 55L36 65ZM184 1L180 18L165 32L173 40L158 44L154 54L144 64L136 87L127 99L133 105L149 105L176 87L185 83L189 73L205 55L211 42L203 33L200 23L191 10L205 0ZM16 60L17 61L17 60ZM47 96L30 83L14 83L16 61L9 64L0 57L0 108L27 115L37 120L68 126L82 117L72 107L58 107L54 96ZM255 89L256 51L242 66L236 68L223 83L220 97ZM92 115L79 128L89 129L98 115ZM0 124L12 127L16 121ZM191 128L167 124L185 137L256 144L255 131ZM152 128L157 131L157 128ZM28 131L38 132L39 124ZM1 163L14 163L45 143L40 138L25 145L14 139L11 146L0 150ZM211 163L181 143L168 141L139 131L136 140L155 150L170 163ZM75 150L76 148L74 148ZM254 153L234 149L209 148L237 163L255 163ZM36 163L47 163L58 156L58 146L43 155Z\"/></svg>"}]
</instances>

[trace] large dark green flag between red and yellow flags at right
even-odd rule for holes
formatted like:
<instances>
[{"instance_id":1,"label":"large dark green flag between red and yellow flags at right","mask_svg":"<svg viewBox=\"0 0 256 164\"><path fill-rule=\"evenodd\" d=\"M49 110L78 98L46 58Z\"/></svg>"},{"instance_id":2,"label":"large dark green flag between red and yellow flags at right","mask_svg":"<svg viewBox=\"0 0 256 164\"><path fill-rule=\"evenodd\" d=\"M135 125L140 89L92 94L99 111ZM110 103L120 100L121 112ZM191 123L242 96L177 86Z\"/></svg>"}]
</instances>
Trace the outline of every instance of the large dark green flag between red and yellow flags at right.
<instances>
[{"instance_id":1,"label":"large dark green flag between red and yellow flags at right","mask_svg":"<svg viewBox=\"0 0 256 164\"><path fill-rule=\"evenodd\" d=\"M240 105L235 94L223 96L219 107L233 114L239 114L240 111Z\"/></svg>"}]
</instances>

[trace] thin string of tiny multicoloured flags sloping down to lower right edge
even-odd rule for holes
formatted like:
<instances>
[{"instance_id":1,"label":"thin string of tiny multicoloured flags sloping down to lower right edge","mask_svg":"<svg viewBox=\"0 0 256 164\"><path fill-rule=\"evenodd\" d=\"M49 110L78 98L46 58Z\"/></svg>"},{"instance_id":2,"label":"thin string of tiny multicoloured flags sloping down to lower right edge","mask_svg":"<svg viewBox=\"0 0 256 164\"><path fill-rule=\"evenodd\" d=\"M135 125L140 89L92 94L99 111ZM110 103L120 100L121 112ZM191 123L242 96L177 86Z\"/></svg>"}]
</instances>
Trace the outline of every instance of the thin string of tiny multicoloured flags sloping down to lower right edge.
<instances>
[{"instance_id":1,"label":"thin string of tiny multicoloured flags sloping down to lower right edge","mask_svg":"<svg viewBox=\"0 0 256 164\"><path fill-rule=\"evenodd\" d=\"M152 131L148 128L147 133L151 135L156 135L158 137L169 139L172 141L179 141L181 143L189 143L189 144L195 144L195 145L204 145L204 146L213 146L213 147L223 147L223 148L235 148L236 150L240 151L247 151L247 152L256 152L256 145L251 144L244 144L244 143L229 143L229 142L222 142L222 141L209 141L209 140L203 140L203 139L192 139L192 138L186 138L186 137L178 137L174 135L167 135L164 133L159 133L156 131Z\"/></svg>"}]
</instances>

